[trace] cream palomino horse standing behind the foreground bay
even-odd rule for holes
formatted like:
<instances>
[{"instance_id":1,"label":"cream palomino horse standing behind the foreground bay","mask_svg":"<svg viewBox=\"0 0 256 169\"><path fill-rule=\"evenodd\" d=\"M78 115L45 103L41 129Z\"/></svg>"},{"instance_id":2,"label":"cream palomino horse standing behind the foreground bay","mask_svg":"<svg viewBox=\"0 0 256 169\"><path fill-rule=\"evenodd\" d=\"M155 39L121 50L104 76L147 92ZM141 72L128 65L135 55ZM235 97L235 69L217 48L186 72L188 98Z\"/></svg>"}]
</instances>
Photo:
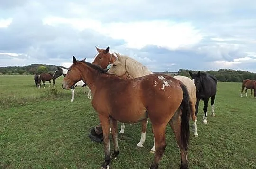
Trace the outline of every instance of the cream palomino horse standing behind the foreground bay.
<instances>
[{"instance_id":1,"label":"cream palomino horse standing behind the foreground bay","mask_svg":"<svg viewBox=\"0 0 256 169\"><path fill-rule=\"evenodd\" d=\"M110 70L107 71L109 74L115 74L117 76L121 76L125 73L128 73L133 78L138 78L148 74L152 74L152 72L149 71L147 67L142 65L140 62L137 62L136 60L128 56L120 55L119 53L116 53L116 55L117 55L117 60L113 63ZM191 117L194 122L193 124L194 135L197 137L198 133L197 133L196 116L195 116L195 105L196 105L195 84L190 78L185 76L174 76L174 78L182 81L188 89L188 92L190 95ZM146 140L146 122L147 122L147 119L145 119L141 123L141 139L140 139L140 142L137 144L138 147L143 147L143 143ZM155 141L150 152L155 153Z\"/></svg>"}]
</instances>

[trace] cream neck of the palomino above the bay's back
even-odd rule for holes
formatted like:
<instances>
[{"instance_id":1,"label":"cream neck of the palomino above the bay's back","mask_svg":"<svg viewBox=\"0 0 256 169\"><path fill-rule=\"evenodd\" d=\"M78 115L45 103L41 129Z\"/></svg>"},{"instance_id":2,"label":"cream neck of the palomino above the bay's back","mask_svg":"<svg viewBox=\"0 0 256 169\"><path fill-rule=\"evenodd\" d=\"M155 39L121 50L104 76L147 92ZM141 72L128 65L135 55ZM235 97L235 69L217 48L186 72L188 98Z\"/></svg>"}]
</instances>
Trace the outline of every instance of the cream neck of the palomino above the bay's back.
<instances>
[{"instance_id":1,"label":"cream neck of the palomino above the bay's back","mask_svg":"<svg viewBox=\"0 0 256 169\"><path fill-rule=\"evenodd\" d=\"M126 72L131 75L133 78L142 77L148 74L152 74L151 71L149 71L146 67L144 67L142 64L138 63L135 60L132 60L130 58L126 58L125 61L126 66Z\"/></svg>"}]
</instances>

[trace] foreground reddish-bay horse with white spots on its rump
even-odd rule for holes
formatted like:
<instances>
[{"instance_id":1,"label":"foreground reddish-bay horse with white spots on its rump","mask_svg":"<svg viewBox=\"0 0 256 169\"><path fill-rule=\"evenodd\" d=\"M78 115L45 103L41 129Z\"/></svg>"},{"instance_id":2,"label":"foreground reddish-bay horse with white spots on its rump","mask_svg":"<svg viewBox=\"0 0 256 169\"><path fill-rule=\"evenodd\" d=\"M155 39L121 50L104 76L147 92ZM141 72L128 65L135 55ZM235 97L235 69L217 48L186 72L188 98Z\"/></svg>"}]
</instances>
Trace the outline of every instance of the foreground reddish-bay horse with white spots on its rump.
<instances>
[{"instance_id":1,"label":"foreground reddish-bay horse with white spots on its rump","mask_svg":"<svg viewBox=\"0 0 256 169\"><path fill-rule=\"evenodd\" d=\"M98 113L103 129L105 161L101 169L108 169L111 157L116 159L119 155L117 121L137 123L148 117L152 124L156 148L155 159L150 169L158 169L166 147L165 131L168 123L174 131L180 148L180 168L188 169L190 105L188 91L181 81L156 73L125 80L106 73L100 66L80 62L73 57L73 64L64 77L62 87L70 89L73 84L81 80L81 75L82 80L91 89L93 95L91 103ZM110 125L114 142L112 156Z\"/></svg>"}]
</instances>

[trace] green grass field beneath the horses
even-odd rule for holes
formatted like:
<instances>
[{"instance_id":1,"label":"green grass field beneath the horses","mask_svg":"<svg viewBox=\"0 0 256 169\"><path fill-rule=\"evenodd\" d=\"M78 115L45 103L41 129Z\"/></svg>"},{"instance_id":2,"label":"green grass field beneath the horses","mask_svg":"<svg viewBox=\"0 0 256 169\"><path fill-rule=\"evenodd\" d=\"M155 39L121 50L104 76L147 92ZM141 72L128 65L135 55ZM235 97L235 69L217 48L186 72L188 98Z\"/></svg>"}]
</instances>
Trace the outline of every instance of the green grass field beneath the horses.
<instances>
[{"instance_id":1,"label":"green grass field beneath the horses","mask_svg":"<svg viewBox=\"0 0 256 169\"><path fill-rule=\"evenodd\" d=\"M48 82L45 89L37 89L33 76L0 76L0 168L100 168L103 145L88 137L91 127L99 123L91 100L76 88L71 103L70 90L61 88L61 78L56 82L55 89L49 89ZM202 123L201 101L199 137L193 137L191 130L191 169L256 168L256 99L249 92L249 98L241 98L240 89L241 83L218 83L216 117L208 116L207 125ZM143 148L137 148L140 127L140 123L127 124L125 134L119 135L120 155L112 160L111 169L149 168L154 157L149 153L153 145L150 122ZM180 154L170 126L166 141L159 169L177 169ZM112 142L110 147L113 151Z\"/></svg>"}]
</instances>

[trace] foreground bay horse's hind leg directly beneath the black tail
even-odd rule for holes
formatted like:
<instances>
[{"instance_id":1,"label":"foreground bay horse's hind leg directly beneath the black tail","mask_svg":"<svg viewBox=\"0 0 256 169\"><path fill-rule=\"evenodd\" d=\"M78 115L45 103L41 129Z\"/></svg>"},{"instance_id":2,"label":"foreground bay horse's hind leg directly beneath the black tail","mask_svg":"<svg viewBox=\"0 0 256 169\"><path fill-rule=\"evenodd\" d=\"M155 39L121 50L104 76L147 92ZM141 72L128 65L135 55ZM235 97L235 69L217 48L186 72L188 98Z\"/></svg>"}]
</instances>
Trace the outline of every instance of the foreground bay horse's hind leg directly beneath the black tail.
<instances>
[{"instance_id":1,"label":"foreground bay horse's hind leg directly beneath the black tail","mask_svg":"<svg viewBox=\"0 0 256 169\"><path fill-rule=\"evenodd\" d=\"M180 148L180 154L181 154L181 166L180 169L188 169L188 156L187 156L187 150L184 148L183 143L181 142L181 122L179 118L179 111L175 113L173 118L170 120L169 125L171 125L171 128L173 129L175 138L177 140L178 146Z\"/></svg>"}]
</instances>

